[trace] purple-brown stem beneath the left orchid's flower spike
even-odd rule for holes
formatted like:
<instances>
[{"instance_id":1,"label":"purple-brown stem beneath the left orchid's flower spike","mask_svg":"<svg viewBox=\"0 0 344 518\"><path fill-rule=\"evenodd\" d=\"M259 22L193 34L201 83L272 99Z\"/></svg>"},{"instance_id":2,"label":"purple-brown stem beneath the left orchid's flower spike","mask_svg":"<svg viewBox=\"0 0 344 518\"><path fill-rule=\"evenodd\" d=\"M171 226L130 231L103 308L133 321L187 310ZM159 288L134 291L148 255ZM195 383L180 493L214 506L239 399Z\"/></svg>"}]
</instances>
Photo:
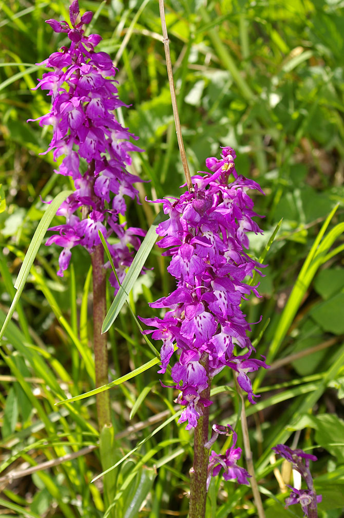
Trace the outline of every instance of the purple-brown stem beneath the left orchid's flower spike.
<instances>
[{"instance_id":1,"label":"purple-brown stem beneath the left orchid's flower spike","mask_svg":"<svg viewBox=\"0 0 344 518\"><path fill-rule=\"evenodd\" d=\"M104 250L102 244L94 248L92 257L93 269L93 345L96 372L96 387L108 383L108 348L107 336L101 334L101 326L106 317L106 271L103 268ZM111 424L111 408L109 392L97 394L97 415L99 430Z\"/></svg>"}]
</instances>

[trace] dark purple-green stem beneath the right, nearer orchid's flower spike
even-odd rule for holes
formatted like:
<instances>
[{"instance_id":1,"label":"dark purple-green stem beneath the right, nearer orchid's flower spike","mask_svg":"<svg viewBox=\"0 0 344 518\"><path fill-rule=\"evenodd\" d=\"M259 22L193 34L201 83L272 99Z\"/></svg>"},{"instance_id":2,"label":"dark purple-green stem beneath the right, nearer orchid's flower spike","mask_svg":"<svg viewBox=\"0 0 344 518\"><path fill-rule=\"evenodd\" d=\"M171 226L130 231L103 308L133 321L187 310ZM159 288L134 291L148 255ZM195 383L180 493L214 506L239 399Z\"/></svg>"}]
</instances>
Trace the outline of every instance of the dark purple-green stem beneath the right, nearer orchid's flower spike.
<instances>
[{"instance_id":1,"label":"dark purple-green stem beneath the right, nearer orchid's flower spike","mask_svg":"<svg viewBox=\"0 0 344 518\"><path fill-rule=\"evenodd\" d=\"M208 357L200 364L209 371ZM201 392L201 398L210 398L210 379L208 386ZM202 405L203 407L203 405ZM195 428L195 436L193 442L193 467L190 469L190 506L189 518L204 518L206 506L206 480L207 469L209 462L209 449L205 447L208 442L208 428L209 428L209 408L203 407L203 415L200 416L197 426Z\"/></svg>"}]
</instances>

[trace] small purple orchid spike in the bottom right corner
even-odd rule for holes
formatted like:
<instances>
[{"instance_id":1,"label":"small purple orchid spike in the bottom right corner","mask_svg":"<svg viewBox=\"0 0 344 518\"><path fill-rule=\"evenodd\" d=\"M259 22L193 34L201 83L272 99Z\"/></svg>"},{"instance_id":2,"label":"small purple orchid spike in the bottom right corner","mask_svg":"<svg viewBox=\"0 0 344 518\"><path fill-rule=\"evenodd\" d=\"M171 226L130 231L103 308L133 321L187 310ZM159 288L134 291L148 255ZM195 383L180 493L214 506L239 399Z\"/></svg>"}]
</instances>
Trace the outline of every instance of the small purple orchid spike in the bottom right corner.
<instances>
[{"instance_id":1,"label":"small purple orchid spike in the bottom right corner","mask_svg":"<svg viewBox=\"0 0 344 518\"><path fill-rule=\"evenodd\" d=\"M307 484L307 490L298 490L295 487L288 485L292 491L290 496L286 498L286 508L294 503L300 503L304 516L316 518L318 516L317 503L321 502L322 496L317 495L315 492L313 479L309 469L309 461L317 461L318 458L315 455L305 453L300 449L292 450L284 444L277 444L277 446L272 449L289 461L292 464L293 469L301 474Z\"/></svg>"}]
</instances>

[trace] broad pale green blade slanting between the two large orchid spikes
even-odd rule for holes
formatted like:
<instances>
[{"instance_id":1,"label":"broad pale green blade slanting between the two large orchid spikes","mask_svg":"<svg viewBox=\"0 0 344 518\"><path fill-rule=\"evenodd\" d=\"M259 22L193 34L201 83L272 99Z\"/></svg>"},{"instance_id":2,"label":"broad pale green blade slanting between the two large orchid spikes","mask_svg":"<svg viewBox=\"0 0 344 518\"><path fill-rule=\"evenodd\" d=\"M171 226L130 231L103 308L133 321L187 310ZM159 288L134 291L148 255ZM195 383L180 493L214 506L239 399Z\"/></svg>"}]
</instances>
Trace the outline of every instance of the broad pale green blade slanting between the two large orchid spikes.
<instances>
[{"instance_id":1,"label":"broad pale green blade slanting between the two large orchid spikes","mask_svg":"<svg viewBox=\"0 0 344 518\"><path fill-rule=\"evenodd\" d=\"M160 212L155 218L152 226L149 228L146 237L142 241L141 247L139 248L137 254L134 257L133 262L131 263L130 268L128 269L127 275L124 278L124 281L119 287L119 290L114 298L113 303L108 311L108 314L105 317L105 320L102 325L102 333L106 333L114 321L116 320L119 311L121 311L123 304L129 297L129 293L136 281L139 277L141 270L146 262L146 259L151 252L155 241L158 239L158 235L156 233L156 228L162 221L165 221L167 217Z\"/></svg>"}]
</instances>

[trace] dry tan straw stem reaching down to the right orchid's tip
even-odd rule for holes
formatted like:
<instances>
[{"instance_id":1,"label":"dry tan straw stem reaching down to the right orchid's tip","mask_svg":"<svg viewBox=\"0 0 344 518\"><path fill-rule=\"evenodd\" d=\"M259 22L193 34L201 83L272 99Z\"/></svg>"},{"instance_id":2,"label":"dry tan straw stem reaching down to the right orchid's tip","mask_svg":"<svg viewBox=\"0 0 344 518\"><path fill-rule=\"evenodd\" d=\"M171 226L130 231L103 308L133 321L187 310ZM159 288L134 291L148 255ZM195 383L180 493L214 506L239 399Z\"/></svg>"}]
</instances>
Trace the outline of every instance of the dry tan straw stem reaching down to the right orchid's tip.
<instances>
[{"instance_id":1,"label":"dry tan straw stem reaching down to the right orchid's tip","mask_svg":"<svg viewBox=\"0 0 344 518\"><path fill-rule=\"evenodd\" d=\"M163 0L159 0L159 9L160 9L160 18L161 18L161 28L162 28L162 36L163 36L163 46L165 49L165 56L166 56L166 66L167 66L167 74L169 77L169 84L170 84L170 92L171 92L171 101L172 101L172 108L173 108L173 117L174 117L174 123L175 123L175 131L177 134L177 140L178 140L178 146L179 151L181 153L181 159L183 163L184 168L184 174L186 178L186 184L189 191L193 191L192 187L192 181L189 171L189 166L186 160L186 153L184 148L184 142L183 142L183 136L182 136L182 128L181 128L181 122L179 120L179 114L178 114L178 108L177 108L177 99L175 96L175 89L174 89L174 81L173 81L173 72L172 72L172 64L171 64L171 56L170 56L170 44L169 44L169 37L167 34L167 27L166 27L166 20L165 20L165 10L163 6Z\"/></svg>"}]
</instances>

